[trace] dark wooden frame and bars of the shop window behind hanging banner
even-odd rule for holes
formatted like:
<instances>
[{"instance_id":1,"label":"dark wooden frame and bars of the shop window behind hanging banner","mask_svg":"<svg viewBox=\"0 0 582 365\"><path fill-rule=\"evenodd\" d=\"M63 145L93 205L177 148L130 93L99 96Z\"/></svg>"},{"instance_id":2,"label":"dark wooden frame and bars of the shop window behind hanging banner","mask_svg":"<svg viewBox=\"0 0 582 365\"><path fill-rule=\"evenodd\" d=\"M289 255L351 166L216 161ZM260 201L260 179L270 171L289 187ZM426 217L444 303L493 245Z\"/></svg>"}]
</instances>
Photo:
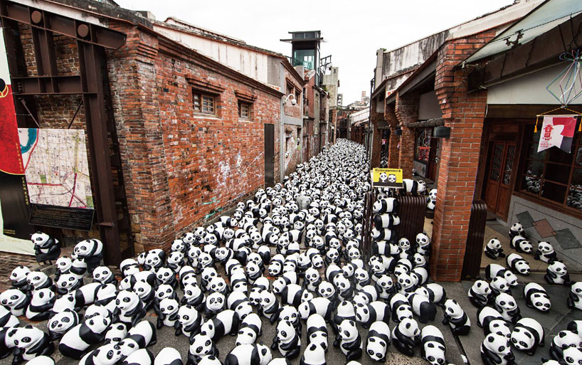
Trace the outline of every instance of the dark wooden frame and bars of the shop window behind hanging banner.
<instances>
[{"instance_id":1,"label":"dark wooden frame and bars of the shop window behind hanging banner","mask_svg":"<svg viewBox=\"0 0 582 365\"><path fill-rule=\"evenodd\" d=\"M538 132L538 133L541 135L541 132ZM572 141L572 147L571 147L572 161L569 164L564 163L564 162L550 161L550 155L551 155L550 152L554 147L551 147L550 149L546 149L544 152L543 158L540 158L540 159L532 158L532 154L530 153L530 151L532 148L534 148L534 150L536 150L537 143L538 143L538 142L535 142L533 137L534 137L534 125L533 124L524 125L524 134L523 134L523 140L522 140L523 141L522 142L522 157L519 158L519 170L518 170L517 179L515 181L514 193L517 193L518 196L520 196L524 199L536 201L537 203L541 203L542 205L547 206L548 208L552 208L554 210L560 211L561 213L567 213L567 214L575 215L578 217L582 216L582 209L574 208L573 206L568 206L568 196L570 196L571 190L580 191L582 193L582 188L581 189L574 189L573 185L572 185L574 171L578 170L578 171L581 171L581 173L582 173L582 163L581 164L576 163L576 157L578 157L578 150L582 148L582 132L578 132L578 128L576 128L576 132L574 134L574 139ZM539 161L539 162L543 163L543 165L541 166L540 176L534 176L533 174L527 174L528 163L535 162L535 161ZM556 181L555 179L545 177L546 176L546 168L547 168L548 164L550 164L550 166L563 166L563 167L568 168L568 179L566 180L565 183L560 182L560 181ZM552 174L551 176L555 176L555 174ZM540 181L539 182L539 192L537 194L524 188L524 186L523 186L524 179L526 177L530 177L533 179L539 179L539 181ZM555 201L555 200L546 198L544 196L541 196L541 193L543 191L543 186L544 186L544 183L546 181L548 181L551 184L557 185L557 186L564 186L566 188L564 198L561 201L561 203L559 201Z\"/></svg>"}]
</instances>

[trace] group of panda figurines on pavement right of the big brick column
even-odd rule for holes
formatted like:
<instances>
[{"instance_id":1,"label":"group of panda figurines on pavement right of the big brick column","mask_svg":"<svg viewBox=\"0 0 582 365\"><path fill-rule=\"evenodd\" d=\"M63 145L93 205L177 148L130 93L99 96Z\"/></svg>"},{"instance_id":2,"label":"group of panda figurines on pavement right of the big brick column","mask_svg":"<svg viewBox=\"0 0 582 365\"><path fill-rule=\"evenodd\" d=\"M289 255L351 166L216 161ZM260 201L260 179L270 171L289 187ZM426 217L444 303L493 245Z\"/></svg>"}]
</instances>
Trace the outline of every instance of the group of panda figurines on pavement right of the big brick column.
<instances>
[{"instance_id":1,"label":"group of panda figurines on pavement right of the big brick column","mask_svg":"<svg viewBox=\"0 0 582 365\"><path fill-rule=\"evenodd\" d=\"M492 263L485 268L485 279L476 280L467 293L472 305L478 308L477 325L482 327L485 339L481 344L481 357L486 365L514 364L513 349L533 355L537 347L544 347L544 328L536 319L523 318L512 288L517 286L517 275L529 275L529 263L522 255L534 255L535 260L548 263L544 279L549 284L570 285L566 303L570 308L582 310L582 283L571 282L568 270L556 255L551 244L540 241L534 250L520 223L509 228L512 250L503 252L501 243L493 238L485 245L485 255L496 260L505 258L506 265ZM541 313L551 309L551 300L539 284L529 282L523 296L527 307ZM581 332L578 332L580 328ZM582 322L572 321L560 331L549 347L549 357L542 364L582 364Z\"/></svg>"}]
</instances>

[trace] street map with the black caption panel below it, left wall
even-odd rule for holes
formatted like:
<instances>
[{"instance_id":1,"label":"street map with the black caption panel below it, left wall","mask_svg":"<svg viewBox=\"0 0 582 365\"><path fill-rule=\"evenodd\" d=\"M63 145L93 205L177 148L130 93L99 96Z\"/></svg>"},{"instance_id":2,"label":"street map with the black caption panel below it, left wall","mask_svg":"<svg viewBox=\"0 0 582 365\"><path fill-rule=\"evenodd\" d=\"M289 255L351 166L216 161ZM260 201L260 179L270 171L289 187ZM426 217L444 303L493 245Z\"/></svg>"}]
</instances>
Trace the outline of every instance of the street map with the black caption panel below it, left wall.
<instances>
[{"instance_id":1,"label":"street map with the black caption panel below it, left wall","mask_svg":"<svg viewBox=\"0 0 582 365\"><path fill-rule=\"evenodd\" d=\"M83 129L18 129L30 222L89 231L93 200Z\"/></svg>"}]
</instances>

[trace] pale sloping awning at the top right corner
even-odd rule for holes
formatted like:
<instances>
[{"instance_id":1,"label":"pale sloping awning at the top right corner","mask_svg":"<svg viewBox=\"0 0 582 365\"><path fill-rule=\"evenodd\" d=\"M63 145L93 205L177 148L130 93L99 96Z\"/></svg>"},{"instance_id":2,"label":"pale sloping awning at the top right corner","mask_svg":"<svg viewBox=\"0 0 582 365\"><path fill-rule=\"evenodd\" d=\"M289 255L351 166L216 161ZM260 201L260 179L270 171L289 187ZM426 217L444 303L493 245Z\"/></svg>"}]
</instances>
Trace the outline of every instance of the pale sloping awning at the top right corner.
<instances>
[{"instance_id":1,"label":"pale sloping awning at the top right corner","mask_svg":"<svg viewBox=\"0 0 582 365\"><path fill-rule=\"evenodd\" d=\"M489 43L473 53L466 63L509 51L515 46L527 43L551 28L582 12L581 0L546 0L521 20L499 33Z\"/></svg>"}]
</instances>

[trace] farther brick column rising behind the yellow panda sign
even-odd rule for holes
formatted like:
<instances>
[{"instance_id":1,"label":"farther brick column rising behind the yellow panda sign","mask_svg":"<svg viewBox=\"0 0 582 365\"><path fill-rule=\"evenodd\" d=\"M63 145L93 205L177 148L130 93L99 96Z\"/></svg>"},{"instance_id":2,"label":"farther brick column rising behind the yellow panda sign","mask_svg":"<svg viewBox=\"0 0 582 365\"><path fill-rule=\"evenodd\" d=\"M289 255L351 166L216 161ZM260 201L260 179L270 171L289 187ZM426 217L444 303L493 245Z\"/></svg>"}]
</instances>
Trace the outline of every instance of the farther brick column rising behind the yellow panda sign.
<instances>
[{"instance_id":1,"label":"farther brick column rising behind the yellow panda sign","mask_svg":"<svg viewBox=\"0 0 582 365\"><path fill-rule=\"evenodd\" d=\"M400 137L400 151L398 154L398 167L402 169L404 179L412 178L412 168L414 160L414 135L415 130L408 128L409 123L418 120L418 92L396 96L396 107L394 112L402 128Z\"/></svg>"}]
</instances>

